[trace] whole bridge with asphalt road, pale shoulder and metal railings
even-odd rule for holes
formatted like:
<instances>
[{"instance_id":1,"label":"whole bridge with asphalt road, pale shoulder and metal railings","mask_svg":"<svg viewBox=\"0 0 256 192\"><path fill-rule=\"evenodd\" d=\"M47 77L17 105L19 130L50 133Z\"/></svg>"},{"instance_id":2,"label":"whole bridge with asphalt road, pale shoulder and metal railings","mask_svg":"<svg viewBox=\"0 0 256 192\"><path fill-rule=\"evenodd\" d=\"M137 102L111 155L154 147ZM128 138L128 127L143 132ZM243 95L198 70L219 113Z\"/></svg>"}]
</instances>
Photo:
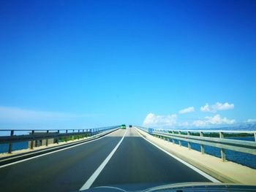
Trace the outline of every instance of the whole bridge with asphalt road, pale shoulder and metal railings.
<instances>
[{"instance_id":1,"label":"whole bridge with asphalt road, pale shoulder and metal railings","mask_svg":"<svg viewBox=\"0 0 256 192\"><path fill-rule=\"evenodd\" d=\"M255 155L256 142L225 139L223 131L219 134L219 138L205 138L201 131L197 136L191 131L182 134L139 126L41 130L19 136L12 130L10 136L0 137L9 152L0 158L1 191L83 191L98 186L134 191L191 182L256 185L255 169L225 159L225 149ZM48 143L51 138L55 144ZM45 146L35 147L36 141L44 139ZM173 145L174 139L178 145ZM29 149L12 151L14 142L23 141L30 142ZM182 147L181 141L188 146ZM200 145L200 152L191 150L192 142ZM222 158L204 154L206 145L219 147Z\"/></svg>"}]
</instances>

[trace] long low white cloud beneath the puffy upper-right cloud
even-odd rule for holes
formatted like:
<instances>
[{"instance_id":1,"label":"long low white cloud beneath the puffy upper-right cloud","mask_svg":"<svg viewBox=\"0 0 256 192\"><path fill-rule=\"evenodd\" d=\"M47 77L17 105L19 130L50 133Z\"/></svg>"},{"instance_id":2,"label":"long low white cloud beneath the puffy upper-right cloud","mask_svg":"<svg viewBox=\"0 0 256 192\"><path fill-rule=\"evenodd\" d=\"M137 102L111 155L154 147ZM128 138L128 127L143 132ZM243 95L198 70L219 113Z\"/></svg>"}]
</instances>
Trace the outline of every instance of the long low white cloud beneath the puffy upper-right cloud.
<instances>
[{"instance_id":1,"label":"long low white cloud beneath the puffy upper-right cloud","mask_svg":"<svg viewBox=\"0 0 256 192\"><path fill-rule=\"evenodd\" d=\"M214 115L214 117L206 117L203 120L195 120L192 126L203 127L203 126L214 126L214 125L230 125L236 123L236 120L230 120L228 118L221 118L220 115Z\"/></svg>"}]
</instances>

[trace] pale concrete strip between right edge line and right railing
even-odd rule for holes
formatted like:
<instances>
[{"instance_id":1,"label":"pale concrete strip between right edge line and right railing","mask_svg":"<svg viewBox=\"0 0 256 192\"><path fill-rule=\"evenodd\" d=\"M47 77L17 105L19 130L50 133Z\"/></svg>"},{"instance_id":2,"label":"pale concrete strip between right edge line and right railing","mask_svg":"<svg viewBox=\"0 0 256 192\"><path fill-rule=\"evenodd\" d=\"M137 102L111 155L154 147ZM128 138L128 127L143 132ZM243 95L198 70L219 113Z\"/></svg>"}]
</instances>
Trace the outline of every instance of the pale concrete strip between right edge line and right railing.
<instances>
[{"instance_id":1,"label":"pale concrete strip between right edge line and right railing","mask_svg":"<svg viewBox=\"0 0 256 192\"><path fill-rule=\"evenodd\" d=\"M137 131L148 141L166 150L168 153L181 158L197 169L210 174L217 180L224 183L242 183L246 185L256 185L256 170L247 166L242 166L231 161L222 162L220 158L212 155L201 154L196 150L189 150L187 147L173 145L173 143L153 137L145 131L136 128Z\"/></svg>"}]
</instances>

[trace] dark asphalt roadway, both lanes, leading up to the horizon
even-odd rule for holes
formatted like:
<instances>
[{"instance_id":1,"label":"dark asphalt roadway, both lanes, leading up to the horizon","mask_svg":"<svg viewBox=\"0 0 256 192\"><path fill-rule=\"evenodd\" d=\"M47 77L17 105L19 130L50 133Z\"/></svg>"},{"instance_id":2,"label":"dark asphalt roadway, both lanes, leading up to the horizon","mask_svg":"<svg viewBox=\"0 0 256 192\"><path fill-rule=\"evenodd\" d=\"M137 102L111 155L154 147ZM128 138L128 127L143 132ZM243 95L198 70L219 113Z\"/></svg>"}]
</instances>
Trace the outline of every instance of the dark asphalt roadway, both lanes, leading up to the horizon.
<instances>
[{"instance_id":1,"label":"dark asphalt roadway, both lanes, leading up to the horizon","mask_svg":"<svg viewBox=\"0 0 256 192\"><path fill-rule=\"evenodd\" d=\"M151 145L135 128L0 168L1 191L79 191L85 185L137 190L204 181L209 180Z\"/></svg>"}]
</instances>

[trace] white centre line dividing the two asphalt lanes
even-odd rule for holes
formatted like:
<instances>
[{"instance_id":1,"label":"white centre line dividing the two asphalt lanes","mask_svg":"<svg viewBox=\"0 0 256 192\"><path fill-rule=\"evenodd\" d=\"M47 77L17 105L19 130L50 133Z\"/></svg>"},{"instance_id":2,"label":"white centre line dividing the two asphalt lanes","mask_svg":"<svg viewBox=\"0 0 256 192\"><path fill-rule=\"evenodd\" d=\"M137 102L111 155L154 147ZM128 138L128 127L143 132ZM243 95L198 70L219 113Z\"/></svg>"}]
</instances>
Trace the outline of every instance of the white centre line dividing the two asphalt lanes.
<instances>
[{"instance_id":1,"label":"white centre line dividing the two asphalt lanes","mask_svg":"<svg viewBox=\"0 0 256 192\"><path fill-rule=\"evenodd\" d=\"M86 181L85 184L83 184L83 186L80 188L79 191L83 191L86 189L89 189L92 185L92 183L94 183L94 180L97 179L97 177L99 176L100 172L102 172L102 170L104 169L104 167L106 166L106 164L108 164L108 161L110 161L110 158L113 156L113 154L116 152L116 150L118 149L119 145L121 144L121 142L124 140L125 134L127 134L127 130L124 133L124 136L121 138L121 140L118 142L118 144L116 145L116 147L111 151L111 153L108 155L107 158L105 158L105 160L102 162L102 164L98 167L98 169L96 169L96 171L94 172L94 174L91 174L91 177L89 178L89 180Z\"/></svg>"}]
</instances>

